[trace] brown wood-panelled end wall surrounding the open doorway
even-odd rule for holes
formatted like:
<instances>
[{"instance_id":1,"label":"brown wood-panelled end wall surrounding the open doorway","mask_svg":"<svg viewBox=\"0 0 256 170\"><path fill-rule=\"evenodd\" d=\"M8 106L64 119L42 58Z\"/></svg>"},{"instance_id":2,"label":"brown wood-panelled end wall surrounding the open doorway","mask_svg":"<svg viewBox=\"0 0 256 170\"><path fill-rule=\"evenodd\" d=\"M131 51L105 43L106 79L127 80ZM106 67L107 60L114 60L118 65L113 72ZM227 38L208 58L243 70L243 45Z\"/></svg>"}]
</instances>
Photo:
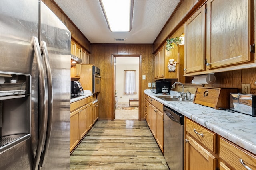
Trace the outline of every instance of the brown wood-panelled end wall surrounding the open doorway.
<instances>
[{"instance_id":1,"label":"brown wood-panelled end wall surrounding the open doorway","mask_svg":"<svg viewBox=\"0 0 256 170\"><path fill-rule=\"evenodd\" d=\"M144 90L154 81L152 44L92 44L92 64L100 68L99 120L114 120L114 56L141 56L139 119L144 120Z\"/></svg>"}]
</instances>

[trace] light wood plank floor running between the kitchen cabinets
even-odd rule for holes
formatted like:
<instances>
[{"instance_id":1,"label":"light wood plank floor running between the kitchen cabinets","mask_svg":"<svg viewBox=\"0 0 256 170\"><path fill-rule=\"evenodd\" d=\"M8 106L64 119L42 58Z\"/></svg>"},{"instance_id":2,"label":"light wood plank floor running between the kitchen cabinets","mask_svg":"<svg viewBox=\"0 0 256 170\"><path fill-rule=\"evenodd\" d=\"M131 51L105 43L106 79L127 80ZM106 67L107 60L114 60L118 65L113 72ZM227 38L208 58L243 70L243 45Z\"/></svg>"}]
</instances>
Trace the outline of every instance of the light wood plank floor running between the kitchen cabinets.
<instances>
[{"instance_id":1,"label":"light wood plank floor running between the kitchen cabinets","mask_svg":"<svg viewBox=\"0 0 256 170\"><path fill-rule=\"evenodd\" d=\"M97 121L70 155L70 170L169 170L146 121Z\"/></svg>"}]
</instances>

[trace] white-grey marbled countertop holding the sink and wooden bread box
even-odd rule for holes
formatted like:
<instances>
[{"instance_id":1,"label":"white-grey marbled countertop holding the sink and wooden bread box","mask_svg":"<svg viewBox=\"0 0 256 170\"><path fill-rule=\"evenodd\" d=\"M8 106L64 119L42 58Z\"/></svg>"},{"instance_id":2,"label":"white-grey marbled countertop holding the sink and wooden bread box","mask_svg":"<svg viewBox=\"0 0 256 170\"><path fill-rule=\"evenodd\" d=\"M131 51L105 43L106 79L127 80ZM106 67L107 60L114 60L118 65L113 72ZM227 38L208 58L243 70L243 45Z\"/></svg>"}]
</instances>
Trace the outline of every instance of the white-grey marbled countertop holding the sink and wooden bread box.
<instances>
[{"instance_id":1,"label":"white-grey marbled countertop holding the sink and wooden bread box","mask_svg":"<svg viewBox=\"0 0 256 170\"><path fill-rule=\"evenodd\" d=\"M146 89L144 94L256 154L256 117L237 112L216 110L193 102L165 101L156 97L156 95L160 96L161 94L155 94L150 89ZM171 91L171 95L176 95L176 92Z\"/></svg>"}]
</instances>

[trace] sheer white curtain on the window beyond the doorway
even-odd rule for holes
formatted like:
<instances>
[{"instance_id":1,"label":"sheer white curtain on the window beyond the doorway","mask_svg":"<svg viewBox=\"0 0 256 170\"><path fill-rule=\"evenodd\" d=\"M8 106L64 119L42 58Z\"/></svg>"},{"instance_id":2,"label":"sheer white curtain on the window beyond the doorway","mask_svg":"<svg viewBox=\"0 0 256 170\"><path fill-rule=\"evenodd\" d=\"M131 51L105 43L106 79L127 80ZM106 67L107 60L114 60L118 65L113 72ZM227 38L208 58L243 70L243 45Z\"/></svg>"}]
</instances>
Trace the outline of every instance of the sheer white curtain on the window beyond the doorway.
<instances>
[{"instance_id":1,"label":"sheer white curtain on the window beyond the doorway","mask_svg":"<svg viewBox=\"0 0 256 170\"><path fill-rule=\"evenodd\" d=\"M124 70L124 94L137 94L136 70Z\"/></svg>"}]
</instances>

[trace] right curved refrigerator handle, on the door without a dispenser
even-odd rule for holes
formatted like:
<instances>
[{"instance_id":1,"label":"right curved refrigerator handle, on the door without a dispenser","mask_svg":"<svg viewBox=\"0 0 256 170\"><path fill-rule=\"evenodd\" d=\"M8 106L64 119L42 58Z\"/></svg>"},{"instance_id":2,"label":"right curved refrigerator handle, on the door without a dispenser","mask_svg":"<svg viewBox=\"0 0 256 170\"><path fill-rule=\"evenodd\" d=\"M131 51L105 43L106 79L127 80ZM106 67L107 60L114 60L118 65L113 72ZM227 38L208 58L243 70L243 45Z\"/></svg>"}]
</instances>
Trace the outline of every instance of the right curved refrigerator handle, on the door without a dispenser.
<instances>
[{"instance_id":1,"label":"right curved refrigerator handle, on the door without a dispenser","mask_svg":"<svg viewBox=\"0 0 256 170\"><path fill-rule=\"evenodd\" d=\"M47 152L49 149L50 136L52 132L53 88L52 88L52 71L51 71L46 42L41 41L41 48L44 55L46 77L47 77L47 88L48 88L48 115L47 115L48 118L47 118L46 139L44 143L44 150L42 150L41 158L40 158L40 166L42 167L44 165L44 158L47 155Z\"/></svg>"}]
</instances>

